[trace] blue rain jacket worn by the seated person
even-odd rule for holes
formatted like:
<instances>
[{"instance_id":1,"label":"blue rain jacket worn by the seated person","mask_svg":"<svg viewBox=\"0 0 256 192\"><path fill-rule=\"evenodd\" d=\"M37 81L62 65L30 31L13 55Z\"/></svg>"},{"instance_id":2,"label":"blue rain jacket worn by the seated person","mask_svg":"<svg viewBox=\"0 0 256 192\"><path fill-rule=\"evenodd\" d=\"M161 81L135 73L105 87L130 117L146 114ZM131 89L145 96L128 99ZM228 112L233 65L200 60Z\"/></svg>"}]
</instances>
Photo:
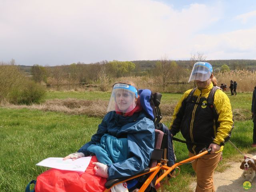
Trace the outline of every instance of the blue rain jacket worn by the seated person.
<instances>
[{"instance_id":1,"label":"blue rain jacket worn by the seated person","mask_svg":"<svg viewBox=\"0 0 256 192\"><path fill-rule=\"evenodd\" d=\"M92 136L91 141L84 144L78 152L90 155L87 148L92 144L100 144L104 134L112 135L118 139L127 138L128 158L121 162L108 164L108 179L122 178L137 174L144 170L149 162L155 142L155 127L152 120L144 112L134 113L124 117L110 111L105 115L98 131Z\"/></svg>"}]
</instances>

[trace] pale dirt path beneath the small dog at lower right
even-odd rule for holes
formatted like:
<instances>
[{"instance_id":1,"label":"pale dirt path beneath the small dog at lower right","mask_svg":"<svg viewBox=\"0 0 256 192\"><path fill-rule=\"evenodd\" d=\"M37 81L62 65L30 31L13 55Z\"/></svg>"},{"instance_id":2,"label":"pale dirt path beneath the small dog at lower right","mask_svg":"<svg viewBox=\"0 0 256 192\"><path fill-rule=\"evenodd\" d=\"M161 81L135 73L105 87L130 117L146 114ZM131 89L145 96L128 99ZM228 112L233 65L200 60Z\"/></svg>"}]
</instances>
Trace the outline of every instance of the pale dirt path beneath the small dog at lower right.
<instances>
[{"instance_id":1,"label":"pale dirt path beneath the small dog at lower right","mask_svg":"<svg viewBox=\"0 0 256 192\"><path fill-rule=\"evenodd\" d=\"M256 154L246 154L248 157L252 157ZM242 162L241 158L241 162ZM244 190L243 183L248 180L242 178L243 170L240 169L241 162L228 162L227 165L230 167L224 172L215 172L214 174L214 186L216 192L256 192L256 177L252 180L252 188ZM191 184L191 188L196 188L196 182Z\"/></svg>"}]
</instances>

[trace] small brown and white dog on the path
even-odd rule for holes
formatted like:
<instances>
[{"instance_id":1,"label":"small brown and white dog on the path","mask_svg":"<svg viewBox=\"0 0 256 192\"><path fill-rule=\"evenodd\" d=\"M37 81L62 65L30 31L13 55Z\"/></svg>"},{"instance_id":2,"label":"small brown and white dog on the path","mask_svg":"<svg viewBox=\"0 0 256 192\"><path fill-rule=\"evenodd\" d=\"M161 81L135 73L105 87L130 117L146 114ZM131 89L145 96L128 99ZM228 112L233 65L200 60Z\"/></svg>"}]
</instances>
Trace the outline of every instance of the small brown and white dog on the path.
<instances>
[{"instance_id":1,"label":"small brown and white dog on the path","mask_svg":"<svg viewBox=\"0 0 256 192\"><path fill-rule=\"evenodd\" d=\"M253 156L252 158L246 158L241 166L240 169L244 170L242 173L242 177L245 178L245 175L251 175L249 181L252 182L255 174L256 174L256 156Z\"/></svg>"}]
</instances>

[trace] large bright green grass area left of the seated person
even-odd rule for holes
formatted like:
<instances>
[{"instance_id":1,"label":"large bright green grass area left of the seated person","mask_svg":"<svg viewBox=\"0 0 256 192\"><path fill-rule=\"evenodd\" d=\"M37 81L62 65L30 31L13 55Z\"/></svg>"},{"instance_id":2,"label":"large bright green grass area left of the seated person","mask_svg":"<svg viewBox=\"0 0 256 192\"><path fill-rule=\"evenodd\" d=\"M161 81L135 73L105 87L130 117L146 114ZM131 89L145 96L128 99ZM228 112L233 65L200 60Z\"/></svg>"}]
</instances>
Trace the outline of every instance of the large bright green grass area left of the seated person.
<instances>
[{"instance_id":1,"label":"large bright green grass area left of the seated person","mask_svg":"<svg viewBox=\"0 0 256 192\"><path fill-rule=\"evenodd\" d=\"M0 108L0 191L22 192L46 168L47 157L76 152L96 132L99 118Z\"/></svg>"}]
</instances>

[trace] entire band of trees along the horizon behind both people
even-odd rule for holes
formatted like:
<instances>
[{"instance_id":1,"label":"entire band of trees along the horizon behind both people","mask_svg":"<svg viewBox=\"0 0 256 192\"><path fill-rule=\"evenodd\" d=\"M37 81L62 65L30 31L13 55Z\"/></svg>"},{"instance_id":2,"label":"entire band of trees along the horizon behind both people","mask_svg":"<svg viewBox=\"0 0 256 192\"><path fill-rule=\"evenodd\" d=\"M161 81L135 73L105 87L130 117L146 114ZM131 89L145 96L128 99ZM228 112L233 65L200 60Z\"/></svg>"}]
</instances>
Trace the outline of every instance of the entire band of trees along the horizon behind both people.
<instances>
[{"instance_id":1,"label":"entire band of trees along the horizon behind both people","mask_svg":"<svg viewBox=\"0 0 256 192\"><path fill-rule=\"evenodd\" d=\"M202 53L191 55L190 60L174 61L166 56L155 61L100 61L96 63L72 63L43 67L33 65L30 69L35 82L54 85L59 91L62 86L75 89L79 85L98 84L100 91L106 91L116 78L129 76L150 76L157 79L161 91L170 83L185 83L191 69L197 61L208 61ZM256 65L256 60L212 60L214 72L246 69ZM251 67L251 69L253 69Z\"/></svg>"}]
</instances>

